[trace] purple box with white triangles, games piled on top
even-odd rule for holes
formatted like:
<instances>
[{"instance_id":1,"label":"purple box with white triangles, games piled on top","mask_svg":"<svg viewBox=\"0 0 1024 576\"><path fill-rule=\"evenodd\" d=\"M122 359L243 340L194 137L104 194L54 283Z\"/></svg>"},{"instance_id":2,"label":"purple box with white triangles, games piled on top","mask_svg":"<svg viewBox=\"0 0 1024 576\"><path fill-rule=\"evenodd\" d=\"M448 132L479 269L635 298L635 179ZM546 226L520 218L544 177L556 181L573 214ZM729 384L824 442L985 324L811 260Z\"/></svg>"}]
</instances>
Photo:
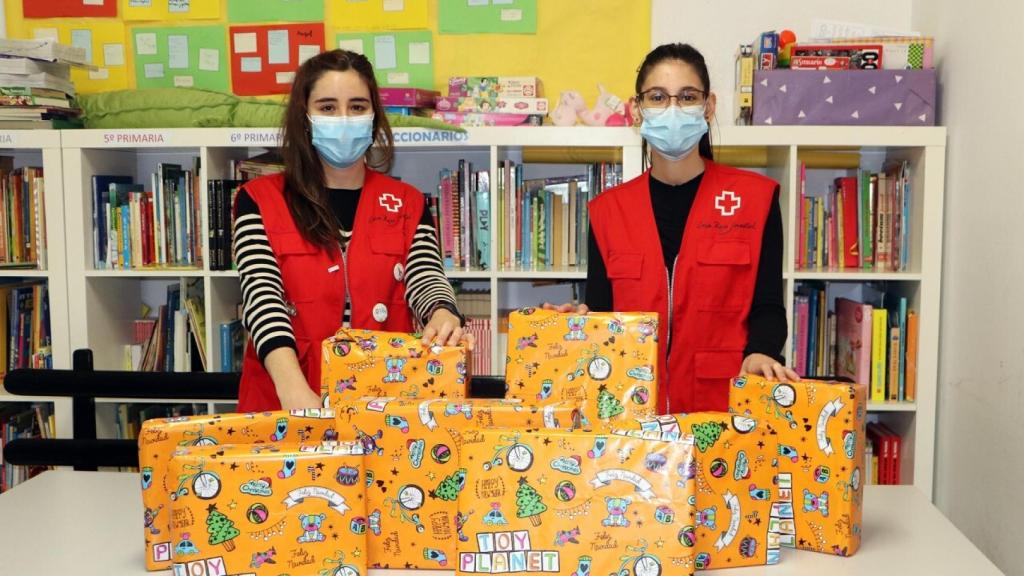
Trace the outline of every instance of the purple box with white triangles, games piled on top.
<instances>
[{"instance_id":1,"label":"purple box with white triangles, games piled on top","mask_svg":"<svg viewBox=\"0 0 1024 576\"><path fill-rule=\"evenodd\" d=\"M765 32L736 54L739 125L932 126L933 39L918 36L797 41Z\"/></svg>"}]
</instances>

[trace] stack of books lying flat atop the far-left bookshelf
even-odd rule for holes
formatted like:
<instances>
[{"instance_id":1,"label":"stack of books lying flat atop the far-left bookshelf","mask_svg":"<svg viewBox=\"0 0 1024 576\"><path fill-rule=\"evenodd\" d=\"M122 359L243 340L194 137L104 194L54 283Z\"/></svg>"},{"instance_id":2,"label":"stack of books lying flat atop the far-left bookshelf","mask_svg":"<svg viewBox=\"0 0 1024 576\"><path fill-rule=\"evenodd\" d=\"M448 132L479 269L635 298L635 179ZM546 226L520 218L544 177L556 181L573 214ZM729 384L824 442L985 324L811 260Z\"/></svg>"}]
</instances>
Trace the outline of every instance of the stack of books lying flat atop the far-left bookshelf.
<instances>
[{"instance_id":1,"label":"stack of books lying flat atop the far-left bookshelf","mask_svg":"<svg viewBox=\"0 0 1024 576\"><path fill-rule=\"evenodd\" d=\"M88 66L84 48L0 39L0 129L81 128L72 66Z\"/></svg>"}]
</instances>

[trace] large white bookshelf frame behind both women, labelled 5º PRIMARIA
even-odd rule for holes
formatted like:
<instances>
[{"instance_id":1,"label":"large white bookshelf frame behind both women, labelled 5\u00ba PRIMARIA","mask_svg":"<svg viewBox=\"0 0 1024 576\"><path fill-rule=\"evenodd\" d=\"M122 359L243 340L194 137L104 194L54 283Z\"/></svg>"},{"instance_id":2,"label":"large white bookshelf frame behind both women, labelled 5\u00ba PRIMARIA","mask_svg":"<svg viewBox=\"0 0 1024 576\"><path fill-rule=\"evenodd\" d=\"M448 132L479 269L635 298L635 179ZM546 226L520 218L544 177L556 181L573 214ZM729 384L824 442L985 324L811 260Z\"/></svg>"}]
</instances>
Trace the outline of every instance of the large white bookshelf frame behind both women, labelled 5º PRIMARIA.
<instances>
[{"instance_id":1,"label":"large white bookshelf frame behind both women, labelled 5\u00ba PRIMARIA","mask_svg":"<svg viewBox=\"0 0 1024 576\"><path fill-rule=\"evenodd\" d=\"M395 173L421 190L436 187L436 174L466 158L476 167L489 166L496 190L499 162L522 159L524 149L557 147L614 149L623 163L624 178L641 172L641 140L632 128L531 127L470 128L464 134L436 130L395 129ZM872 404L872 418L881 418L904 436L903 470L906 482L931 495L935 452L936 383L938 366L939 290L943 176L946 131L941 127L716 127L716 147L731 153L757 152L764 159L756 169L780 183L785 256L783 283L791 308L797 284L803 281L876 282L900 286L909 305L920 314L919 384L913 403ZM91 254L91 182L94 173L129 173L144 176L157 162L201 161L201 195L206 203L206 181L228 177L228 161L252 157L280 142L274 129L155 129L74 130L62 133L65 210L67 231L67 294L70 338L66 348L90 347L97 369L120 366L121 348L128 342L131 321L146 290L168 282L201 282L207 318L207 356L210 366L220 365L217 325L233 318L241 299L238 275L209 270L204 247L203 269L188 271L95 271ZM912 249L908 272L872 273L808 272L796 270L796 237L799 204L799 158L805 151L845 151L851 154L884 155L907 159L913 176L913 213L910 216ZM578 164L577 168L583 164ZM557 168L557 167L556 167ZM564 165L562 166L564 168ZM527 168L528 170L529 168ZM573 173L565 172L562 173ZM527 177L530 177L527 174ZM48 179L48 186L51 186ZM48 195L48 199L52 196ZM59 207L55 208L58 209ZM497 214L497 195L492 194L492 213ZM203 214L206 228L206 212ZM51 220L52 222L52 220ZM494 222L494 220L493 220ZM51 228L54 225L50 224ZM490 227L490 245L498 246L498 227ZM54 236L50 236L51 244ZM51 254L54 251L51 250ZM56 260L51 258L51 268ZM500 345L499 311L536 305L543 300L561 301L570 294L565 287L535 287L534 282L583 282L586 271L560 270L453 270L453 280L490 292L492 366L504 367ZM52 277L51 277L52 278ZM148 286L148 288L146 288ZM56 318L57 315L54 315ZM56 332L56 329L54 329ZM785 354L790 356L790 346ZM105 399L116 404L124 399ZM182 399L186 401L187 399ZM208 404L210 411L224 411L223 404Z\"/></svg>"}]
</instances>

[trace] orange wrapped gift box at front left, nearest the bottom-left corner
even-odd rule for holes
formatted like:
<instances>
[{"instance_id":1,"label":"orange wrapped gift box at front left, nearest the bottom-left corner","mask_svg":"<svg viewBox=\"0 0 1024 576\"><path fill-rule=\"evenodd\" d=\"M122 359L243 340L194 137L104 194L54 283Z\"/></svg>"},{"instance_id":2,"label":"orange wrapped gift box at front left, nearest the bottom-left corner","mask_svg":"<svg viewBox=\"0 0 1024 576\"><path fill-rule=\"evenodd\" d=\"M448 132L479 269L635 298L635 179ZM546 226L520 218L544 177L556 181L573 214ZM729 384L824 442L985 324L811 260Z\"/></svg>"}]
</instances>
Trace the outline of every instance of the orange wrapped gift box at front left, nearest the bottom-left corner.
<instances>
[{"instance_id":1,"label":"orange wrapped gift box at front left, nearest the bottom-left corner","mask_svg":"<svg viewBox=\"0 0 1024 576\"><path fill-rule=\"evenodd\" d=\"M362 446L249 444L177 450L175 576L367 573Z\"/></svg>"}]
</instances>

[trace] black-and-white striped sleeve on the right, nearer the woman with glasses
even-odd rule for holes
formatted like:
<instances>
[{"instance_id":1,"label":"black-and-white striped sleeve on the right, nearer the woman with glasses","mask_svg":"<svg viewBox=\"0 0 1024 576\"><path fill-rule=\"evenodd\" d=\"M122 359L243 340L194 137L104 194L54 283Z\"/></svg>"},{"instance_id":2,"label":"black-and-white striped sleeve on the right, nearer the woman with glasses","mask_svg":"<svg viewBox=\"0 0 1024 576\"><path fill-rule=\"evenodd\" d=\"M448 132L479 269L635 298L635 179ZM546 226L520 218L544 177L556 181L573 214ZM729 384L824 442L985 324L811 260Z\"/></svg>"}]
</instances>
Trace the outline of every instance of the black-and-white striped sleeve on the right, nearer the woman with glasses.
<instances>
[{"instance_id":1,"label":"black-and-white striped sleeve on the right, nearer the woman with glasses","mask_svg":"<svg viewBox=\"0 0 1024 576\"><path fill-rule=\"evenodd\" d=\"M434 219L427 205L423 206L423 214L416 227L413 246L409 249L406 260L406 300L413 315L423 324L430 320L429 315L438 307L459 315L455 290L444 275Z\"/></svg>"}]
</instances>

